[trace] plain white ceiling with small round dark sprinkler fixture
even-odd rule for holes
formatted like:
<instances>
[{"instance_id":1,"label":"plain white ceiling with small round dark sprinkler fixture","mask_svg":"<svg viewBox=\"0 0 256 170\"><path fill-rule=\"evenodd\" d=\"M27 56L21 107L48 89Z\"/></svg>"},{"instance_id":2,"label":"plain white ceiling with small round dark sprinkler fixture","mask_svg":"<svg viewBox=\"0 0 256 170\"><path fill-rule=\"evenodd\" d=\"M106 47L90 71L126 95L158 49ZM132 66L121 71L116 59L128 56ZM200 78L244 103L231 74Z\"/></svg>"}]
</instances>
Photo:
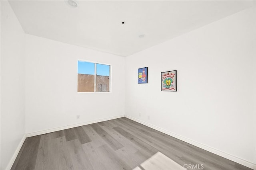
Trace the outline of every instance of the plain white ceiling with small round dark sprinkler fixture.
<instances>
[{"instance_id":1,"label":"plain white ceiling with small round dark sprinkler fixture","mask_svg":"<svg viewBox=\"0 0 256 170\"><path fill-rule=\"evenodd\" d=\"M254 1L78 1L78 8L71 8L64 0L9 2L25 33L120 56L255 6Z\"/></svg>"}]
</instances>

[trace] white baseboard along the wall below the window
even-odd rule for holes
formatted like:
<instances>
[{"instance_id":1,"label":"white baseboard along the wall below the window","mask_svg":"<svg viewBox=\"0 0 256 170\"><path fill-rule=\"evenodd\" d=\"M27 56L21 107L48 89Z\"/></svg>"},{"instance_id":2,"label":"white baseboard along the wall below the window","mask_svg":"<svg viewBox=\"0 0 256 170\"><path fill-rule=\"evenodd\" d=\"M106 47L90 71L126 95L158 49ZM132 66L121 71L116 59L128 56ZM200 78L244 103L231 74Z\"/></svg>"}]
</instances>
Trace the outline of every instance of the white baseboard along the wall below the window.
<instances>
[{"instance_id":1,"label":"white baseboard along the wall below the window","mask_svg":"<svg viewBox=\"0 0 256 170\"><path fill-rule=\"evenodd\" d=\"M42 134L51 133L51 132L55 132L55 131L61 131L61 130L64 130L64 129L70 129L70 128L73 128L73 127L89 125L89 124L92 124L92 123L98 123L98 122L101 122L101 121L117 119L117 118L120 118L120 117L124 117L124 115L118 115L118 116L108 117L108 118L104 118L104 119L97 119L97 120L93 120L93 121L87 121L87 122L78 123L78 124L74 124L74 125L57 127L57 128L54 128L54 129L48 129L48 130L44 130L44 131L37 131L37 132L33 132L33 133L27 133L26 137L32 137L32 136L42 135Z\"/></svg>"}]
</instances>

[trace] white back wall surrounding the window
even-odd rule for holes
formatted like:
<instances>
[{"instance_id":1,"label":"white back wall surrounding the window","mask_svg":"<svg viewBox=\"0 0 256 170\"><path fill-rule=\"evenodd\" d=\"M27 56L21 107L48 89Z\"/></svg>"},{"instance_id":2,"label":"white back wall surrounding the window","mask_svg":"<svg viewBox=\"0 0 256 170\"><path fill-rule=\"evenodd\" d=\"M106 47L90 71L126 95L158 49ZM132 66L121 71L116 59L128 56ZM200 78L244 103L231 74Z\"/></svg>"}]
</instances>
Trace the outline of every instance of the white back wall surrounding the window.
<instances>
[{"instance_id":1,"label":"white back wall surrounding the window","mask_svg":"<svg viewBox=\"0 0 256 170\"><path fill-rule=\"evenodd\" d=\"M78 94L78 59L111 64L112 92ZM124 57L26 34L26 133L118 115L124 115Z\"/></svg>"}]
</instances>

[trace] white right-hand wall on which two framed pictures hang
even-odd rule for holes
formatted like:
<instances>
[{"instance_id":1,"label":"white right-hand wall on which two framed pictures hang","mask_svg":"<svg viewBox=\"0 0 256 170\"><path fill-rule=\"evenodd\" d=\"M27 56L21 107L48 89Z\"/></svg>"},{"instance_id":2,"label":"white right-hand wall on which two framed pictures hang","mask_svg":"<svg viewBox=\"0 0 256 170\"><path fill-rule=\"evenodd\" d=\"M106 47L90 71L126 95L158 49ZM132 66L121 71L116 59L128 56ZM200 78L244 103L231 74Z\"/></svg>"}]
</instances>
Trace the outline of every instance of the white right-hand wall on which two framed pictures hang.
<instances>
[{"instance_id":1,"label":"white right-hand wall on which two framed pictures hang","mask_svg":"<svg viewBox=\"0 0 256 170\"><path fill-rule=\"evenodd\" d=\"M125 115L256 163L255 48L251 8L126 57ZM178 92L161 92L170 70Z\"/></svg>"}]
</instances>

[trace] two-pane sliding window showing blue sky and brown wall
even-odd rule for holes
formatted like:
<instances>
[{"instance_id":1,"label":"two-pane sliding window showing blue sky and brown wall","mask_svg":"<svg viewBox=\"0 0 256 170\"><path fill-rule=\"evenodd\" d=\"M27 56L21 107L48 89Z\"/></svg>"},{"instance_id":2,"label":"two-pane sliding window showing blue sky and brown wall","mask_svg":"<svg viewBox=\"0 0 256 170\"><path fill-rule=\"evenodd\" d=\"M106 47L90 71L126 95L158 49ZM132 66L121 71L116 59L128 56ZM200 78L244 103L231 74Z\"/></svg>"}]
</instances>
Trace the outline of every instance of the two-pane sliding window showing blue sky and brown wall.
<instances>
[{"instance_id":1,"label":"two-pane sliding window showing blue sky and brown wall","mask_svg":"<svg viewBox=\"0 0 256 170\"><path fill-rule=\"evenodd\" d=\"M110 92L110 65L78 60L77 92Z\"/></svg>"}]
</instances>

